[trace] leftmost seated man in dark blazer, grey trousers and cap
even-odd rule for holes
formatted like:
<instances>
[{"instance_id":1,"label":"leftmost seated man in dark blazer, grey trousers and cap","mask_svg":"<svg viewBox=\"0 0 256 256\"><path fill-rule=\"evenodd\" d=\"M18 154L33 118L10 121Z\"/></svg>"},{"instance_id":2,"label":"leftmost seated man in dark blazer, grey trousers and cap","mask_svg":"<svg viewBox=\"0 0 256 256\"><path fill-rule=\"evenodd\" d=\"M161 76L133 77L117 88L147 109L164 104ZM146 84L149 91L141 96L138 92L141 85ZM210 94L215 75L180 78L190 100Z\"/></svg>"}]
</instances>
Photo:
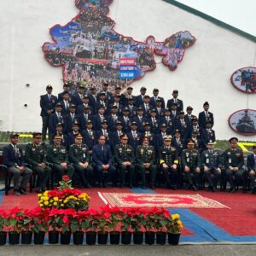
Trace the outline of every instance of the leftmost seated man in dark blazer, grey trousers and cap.
<instances>
[{"instance_id":1,"label":"leftmost seated man in dark blazer, grey trousers and cap","mask_svg":"<svg viewBox=\"0 0 256 256\"><path fill-rule=\"evenodd\" d=\"M25 167L22 149L17 146L19 135L11 134L9 138L10 144L3 148L3 165L7 166L7 172L14 175L15 195L26 195L26 185L32 176L32 170Z\"/></svg>"}]
</instances>

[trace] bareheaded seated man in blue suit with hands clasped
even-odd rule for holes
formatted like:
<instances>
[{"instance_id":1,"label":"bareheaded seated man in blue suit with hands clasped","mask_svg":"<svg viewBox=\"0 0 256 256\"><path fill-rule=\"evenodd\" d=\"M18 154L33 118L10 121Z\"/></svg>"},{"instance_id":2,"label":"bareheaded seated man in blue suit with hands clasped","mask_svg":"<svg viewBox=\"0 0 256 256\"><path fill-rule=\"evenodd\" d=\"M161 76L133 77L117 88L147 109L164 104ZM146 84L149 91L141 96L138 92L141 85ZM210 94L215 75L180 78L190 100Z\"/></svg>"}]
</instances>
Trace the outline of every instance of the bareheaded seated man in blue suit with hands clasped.
<instances>
[{"instance_id":1,"label":"bareheaded seated man in blue suit with hands clasped","mask_svg":"<svg viewBox=\"0 0 256 256\"><path fill-rule=\"evenodd\" d=\"M100 136L98 144L92 148L92 163L96 170L96 177L100 182L100 187L107 188L109 180L113 181L116 170L113 166L110 146L106 144L106 137ZM103 177L103 172L105 172Z\"/></svg>"}]
</instances>

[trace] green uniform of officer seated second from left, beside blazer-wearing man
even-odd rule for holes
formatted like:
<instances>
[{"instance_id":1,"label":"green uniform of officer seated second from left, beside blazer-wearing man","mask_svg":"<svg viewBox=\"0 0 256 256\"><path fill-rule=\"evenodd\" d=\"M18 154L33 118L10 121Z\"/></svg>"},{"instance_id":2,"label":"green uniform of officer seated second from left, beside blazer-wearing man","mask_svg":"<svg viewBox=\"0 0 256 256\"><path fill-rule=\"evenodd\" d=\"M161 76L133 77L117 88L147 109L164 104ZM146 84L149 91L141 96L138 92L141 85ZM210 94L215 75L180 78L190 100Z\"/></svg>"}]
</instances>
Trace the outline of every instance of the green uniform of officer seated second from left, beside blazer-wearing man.
<instances>
[{"instance_id":1,"label":"green uniform of officer seated second from left, beside blazer-wearing man","mask_svg":"<svg viewBox=\"0 0 256 256\"><path fill-rule=\"evenodd\" d=\"M38 174L37 187L44 189L49 178L51 168L49 166L40 167L39 164L46 164L45 151L42 145L29 143L25 148L26 163L32 166L32 170Z\"/></svg>"}]
</instances>

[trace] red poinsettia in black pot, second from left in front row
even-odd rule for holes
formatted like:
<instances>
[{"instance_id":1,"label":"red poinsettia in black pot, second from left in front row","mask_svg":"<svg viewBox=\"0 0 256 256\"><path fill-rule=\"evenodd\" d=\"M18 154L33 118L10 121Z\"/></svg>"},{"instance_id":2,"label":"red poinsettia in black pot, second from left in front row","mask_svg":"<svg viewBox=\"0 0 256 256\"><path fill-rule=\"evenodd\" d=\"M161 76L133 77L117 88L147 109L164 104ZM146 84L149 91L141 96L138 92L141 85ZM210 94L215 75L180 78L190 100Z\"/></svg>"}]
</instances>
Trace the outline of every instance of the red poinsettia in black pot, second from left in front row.
<instances>
[{"instance_id":1,"label":"red poinsettia in black pot, second from left in front row","mask_svg":"<svg viewBox=\"0 0 256 256\"><path fill-rule=\"evenodd\" d=\"M8 213L8 218L6 218L5 224L9 230L9 244L15 245L20 241L20 218L23 215L23 211L15 207L11 209Z\"/></svg>"}]
</instances>

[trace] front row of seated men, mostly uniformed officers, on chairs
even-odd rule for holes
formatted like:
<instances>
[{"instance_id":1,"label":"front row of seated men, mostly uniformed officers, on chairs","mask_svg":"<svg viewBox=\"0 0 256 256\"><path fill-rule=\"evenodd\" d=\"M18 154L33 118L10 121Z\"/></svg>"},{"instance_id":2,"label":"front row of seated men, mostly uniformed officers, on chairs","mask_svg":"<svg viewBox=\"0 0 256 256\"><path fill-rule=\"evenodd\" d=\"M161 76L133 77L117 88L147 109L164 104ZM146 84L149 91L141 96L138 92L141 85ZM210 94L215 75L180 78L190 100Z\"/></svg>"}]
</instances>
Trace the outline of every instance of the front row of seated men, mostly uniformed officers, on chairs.
<instances>
[{"instance_id":1,"label":"front row of seated men, mostly uniformed officers, on chairs","mask_svg":"<svg viewBox=\"0 0 256 256\"><path fill-rule=\"evenodd\" d=\"M33 141L26 145L25 158L21 148L18 147L18 134L10 135L10 144L3 148L3 164L7 172L14 176L15 195L26 194L26 184L32 176L32 171L38 175L37 189L42 192L51 172L55 172L58 180L64 174L73 178L77 174L84 187L91 187L92 177L98 180L100 186L107 187L109 182L118 178L120 186L128 183L132 188L136 183L136 171L143 189L146 188L146 173L149 174L149 186L154 189L155 177L162 172L166 187L177 189L178 175L181 173L188 184L188 189L197 190L204 175L209 183L209 189L214 192L221 175L224 174L230 183L230 192L236 192L236 185L241 184L243 178L244 158L238 139L230 138L230 148L223 154L223 160L213 143L207 143L207 150L202 154L195 149L195 142L189 140L187 148L178 156L177 149L172 146L172 138L166 136L164 144L156 153L154 146L149 145L149 138L143 137L142 145L134 150L129 144L126 134L120 137L120 143L114 148L113 154L110 146L106 144L106 137L100 136L98 143L93 146L90 154L89 148L83 144L83 137L78 134L74 144L67 149L61 145L61 136L55 134L54 144L47 148L41 144L41 133L33 134ZM251 179L253 193L256 193L255 160L256 146L253 154L247 157L247 174ZM28 168L25 162L30 165ZM125 180L127 172L128 179ZM22 179L20 181L20 176Z\"/></svg>"}]
</instances>

